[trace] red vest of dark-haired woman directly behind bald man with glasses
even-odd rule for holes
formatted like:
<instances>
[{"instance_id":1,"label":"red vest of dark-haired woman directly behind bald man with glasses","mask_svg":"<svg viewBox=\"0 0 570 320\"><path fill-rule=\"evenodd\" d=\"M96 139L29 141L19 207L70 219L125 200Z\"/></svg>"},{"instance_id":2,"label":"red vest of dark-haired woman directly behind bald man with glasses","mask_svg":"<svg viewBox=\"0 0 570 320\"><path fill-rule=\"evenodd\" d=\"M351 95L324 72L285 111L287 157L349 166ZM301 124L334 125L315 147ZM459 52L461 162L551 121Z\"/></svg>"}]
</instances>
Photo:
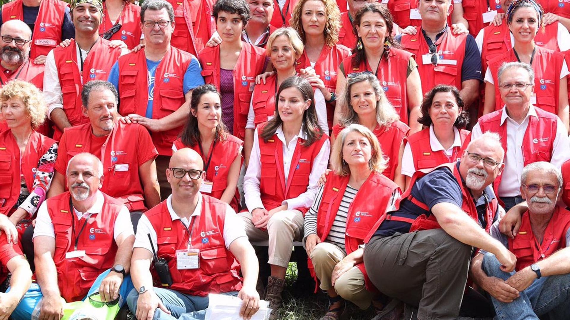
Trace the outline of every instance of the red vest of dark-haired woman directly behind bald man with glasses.
<instances>
[{"instance_id":1,"label":"red vest of dark-haired woman directly behind bald man with glasses","mask_svg":"<svg viewBox=\"0 0 570 320\"><path fill-rule=\"evenodd\" d=\"M210 166L206 171L206 180L213 182L212 192L209 195L213 196L216 199L221 199L223 192L226 191L227 175L230 173L231 164L234 163L235 159L237 157L240 157L242 154L241 150L243 147L243 141L232 136L231 134L228 134L226 140L218 139L215 142L215 147L210 146L210 151L208 154L202 154L202 150L200 149L200 145L198 145L198 143L196 143L194 146L187 146L182 143L182 140L180 138L174 141L174 146L176 146L176 149L178 150L189 147L190 149L200 154L205 165L210 162ZM234 209L234 211L237 212L238 204L239 191L236 188L235 196L231 200L230 206Z\"/></svg>"}]
</instances>

